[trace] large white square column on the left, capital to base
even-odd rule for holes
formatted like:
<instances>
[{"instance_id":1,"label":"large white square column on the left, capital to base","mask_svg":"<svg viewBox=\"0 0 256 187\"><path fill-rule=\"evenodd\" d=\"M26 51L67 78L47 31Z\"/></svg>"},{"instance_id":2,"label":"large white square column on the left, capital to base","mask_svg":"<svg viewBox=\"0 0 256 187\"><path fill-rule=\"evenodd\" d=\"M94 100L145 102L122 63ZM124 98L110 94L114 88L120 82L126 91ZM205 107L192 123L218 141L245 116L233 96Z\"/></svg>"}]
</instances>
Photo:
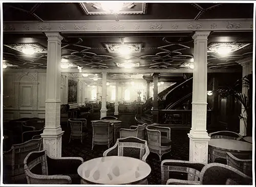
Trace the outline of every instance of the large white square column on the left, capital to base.
<instances>
[{"instance_id":1,"label":"large white square column on the left, capital to base","mask_svg":"<svg viewBox=\"0 0 256 187\"><path fill-rule=\"evenodd\" d=\"M60 58L61 40L59 33L46 33L48 37L46 72L46 125L41 134L48 155L61 157L60 127Z\"/></svg>"}]
</instances>

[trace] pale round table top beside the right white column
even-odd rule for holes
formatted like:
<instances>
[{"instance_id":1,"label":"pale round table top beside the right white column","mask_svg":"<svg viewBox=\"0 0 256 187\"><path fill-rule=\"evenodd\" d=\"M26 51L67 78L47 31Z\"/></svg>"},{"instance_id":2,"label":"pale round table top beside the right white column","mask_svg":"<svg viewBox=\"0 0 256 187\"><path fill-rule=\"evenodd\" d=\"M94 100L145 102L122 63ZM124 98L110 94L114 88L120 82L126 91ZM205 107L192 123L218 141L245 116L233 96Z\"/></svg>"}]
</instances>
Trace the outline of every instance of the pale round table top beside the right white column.
<instances>
[{"instance_id":1,"label":"pale round table top beside the right white column","mask_svg":"<svg viewBox=\"0 0 256 187\"><path fill-rule=\"evenodd\" d=\"M210 139L208 145L230 151L252 151L252 144L234 139Z\"/></svg>"}]
</instances>

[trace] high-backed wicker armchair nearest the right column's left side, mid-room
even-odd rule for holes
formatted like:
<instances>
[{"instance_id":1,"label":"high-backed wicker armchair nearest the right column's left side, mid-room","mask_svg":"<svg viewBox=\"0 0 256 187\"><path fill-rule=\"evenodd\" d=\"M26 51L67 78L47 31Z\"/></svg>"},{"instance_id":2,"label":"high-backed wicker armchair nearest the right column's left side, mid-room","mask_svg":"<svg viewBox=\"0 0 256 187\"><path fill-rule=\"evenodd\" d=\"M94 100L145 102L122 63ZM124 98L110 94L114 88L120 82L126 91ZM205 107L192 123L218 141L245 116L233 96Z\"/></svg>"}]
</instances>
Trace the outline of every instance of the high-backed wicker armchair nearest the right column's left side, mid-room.
<instances>
[{"instance_id":1,"label":"high-backed wicker armchair nearest the right column's left side, mid-room","mask_svg":"<svg viewBox=\"0 0 256 187\"><path fill-rule=\"evenodd\" d=\"M154 125L146 126L147 143L150 152L156 153L161 160L163 154L170 152L172 141L170 140L170 128Z\"/></svg>"}]
</instances>

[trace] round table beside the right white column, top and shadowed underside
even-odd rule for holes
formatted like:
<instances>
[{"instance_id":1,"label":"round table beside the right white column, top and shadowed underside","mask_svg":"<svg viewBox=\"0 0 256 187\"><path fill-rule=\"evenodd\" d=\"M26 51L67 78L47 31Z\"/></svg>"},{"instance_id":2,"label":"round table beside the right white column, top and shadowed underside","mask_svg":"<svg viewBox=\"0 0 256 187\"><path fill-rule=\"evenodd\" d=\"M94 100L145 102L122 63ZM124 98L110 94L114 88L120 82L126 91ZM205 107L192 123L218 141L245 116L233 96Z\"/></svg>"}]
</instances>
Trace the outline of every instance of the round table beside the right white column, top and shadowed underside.
<instances>
[{"instance_id":1,"label":"round table beside the right white column, top and shadowed underside","mask_svg":"<svg viewBox=\"0 0 256 187\"><path fill-rule=\"evenodd\" d=\"M227 152L241 155L252 153L252 144L234 139L210 139L208 145L209 162L214 162L217 157L226 159Z\"/></svg>"}]
</instances>

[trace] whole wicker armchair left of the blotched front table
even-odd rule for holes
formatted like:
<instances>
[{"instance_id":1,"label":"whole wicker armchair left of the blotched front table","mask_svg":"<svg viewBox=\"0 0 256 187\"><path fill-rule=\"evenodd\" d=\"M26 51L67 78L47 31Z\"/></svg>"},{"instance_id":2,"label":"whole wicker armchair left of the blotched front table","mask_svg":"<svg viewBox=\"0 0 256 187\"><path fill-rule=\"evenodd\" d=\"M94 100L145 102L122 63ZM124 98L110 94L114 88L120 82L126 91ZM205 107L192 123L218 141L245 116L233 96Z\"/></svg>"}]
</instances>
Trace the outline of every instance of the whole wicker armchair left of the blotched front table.
<instances>
[{"instance_id":1,"label":"whole wicker armchair left of the blotched front table","mask_svg":"<svg viewBox=\"0 0 256 187\"><path fill-rule=\"evenodd\" d=\"M52 158L46 150L31 152L24 160L28 184L80 184L81 157Z\"/></svg>"}]
</instances>

